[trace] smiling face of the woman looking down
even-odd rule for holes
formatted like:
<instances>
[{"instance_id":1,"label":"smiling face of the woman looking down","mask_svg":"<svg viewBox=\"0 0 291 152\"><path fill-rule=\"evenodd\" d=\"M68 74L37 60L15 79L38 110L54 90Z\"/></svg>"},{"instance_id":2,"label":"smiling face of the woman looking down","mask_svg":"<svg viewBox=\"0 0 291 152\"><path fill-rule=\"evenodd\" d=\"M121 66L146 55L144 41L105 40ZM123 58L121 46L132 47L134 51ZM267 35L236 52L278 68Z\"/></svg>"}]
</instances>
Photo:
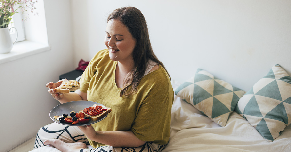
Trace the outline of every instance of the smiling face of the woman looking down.
<instances>
[{"instance_id":1,"label":"smiling face of the woman looking down","mask_svg":"<svg viewBox=\"0 0 291 152\"><path fill-rule=\"evenodd\" d=\"M120 63L133 61L132 52L136 40L119 20L111 19L108 21L104 43L112 61L119 61Z\"/></svg>"}]
</instances>

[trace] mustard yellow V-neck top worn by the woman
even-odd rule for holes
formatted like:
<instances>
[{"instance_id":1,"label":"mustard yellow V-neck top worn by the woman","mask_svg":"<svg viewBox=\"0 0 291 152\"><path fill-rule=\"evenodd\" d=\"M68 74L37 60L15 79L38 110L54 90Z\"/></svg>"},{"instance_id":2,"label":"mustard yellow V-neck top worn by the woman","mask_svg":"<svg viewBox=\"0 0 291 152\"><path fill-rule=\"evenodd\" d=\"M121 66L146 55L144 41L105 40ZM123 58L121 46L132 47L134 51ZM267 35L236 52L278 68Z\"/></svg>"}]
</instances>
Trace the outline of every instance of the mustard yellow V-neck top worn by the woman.
<instances>
[{"instance_id":1,"label":"mustard yellow V-neck top worn by the woman","mask_svg":"<svg viewBox=\"0 0 291 152\"><path fill-rule=\"evenodd\" d=\"M174 92L162 66L141 78L136 94L120 97L115 81L117 61L108 50L97 52L81 78L82 92L87 99L112 109L108 116L92 126L96 131L128 131L142 140L166 144L170 137L171 107ZM89 140L94 148L105 146Z\"/></svg>"}]
</instances>

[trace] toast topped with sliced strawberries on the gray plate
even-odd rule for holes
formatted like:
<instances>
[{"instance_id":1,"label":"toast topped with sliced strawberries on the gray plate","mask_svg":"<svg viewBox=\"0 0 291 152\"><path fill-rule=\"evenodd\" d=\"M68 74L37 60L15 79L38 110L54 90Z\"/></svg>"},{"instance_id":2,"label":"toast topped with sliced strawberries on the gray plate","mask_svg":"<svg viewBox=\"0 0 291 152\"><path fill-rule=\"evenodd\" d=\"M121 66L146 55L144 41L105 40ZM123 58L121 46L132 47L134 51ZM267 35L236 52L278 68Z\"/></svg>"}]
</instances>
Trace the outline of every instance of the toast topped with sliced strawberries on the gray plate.
<instances>
[{"instance_id":1,"label":"toast topped with sliced strawberries on the gray plate","mask_svg":"<svg viewBox=\"0 0 291 152\"><path fill-rule=\"evenodd\" d=\"M85 118L90 117L90 120L96 121L96 120L100 120L111 111L112 111L111 108L106 108L106 107L102 107L95 104L92 107L86 108L84 110L80 110L79 112L84 113Z\"/></svg>"}]
</instances>

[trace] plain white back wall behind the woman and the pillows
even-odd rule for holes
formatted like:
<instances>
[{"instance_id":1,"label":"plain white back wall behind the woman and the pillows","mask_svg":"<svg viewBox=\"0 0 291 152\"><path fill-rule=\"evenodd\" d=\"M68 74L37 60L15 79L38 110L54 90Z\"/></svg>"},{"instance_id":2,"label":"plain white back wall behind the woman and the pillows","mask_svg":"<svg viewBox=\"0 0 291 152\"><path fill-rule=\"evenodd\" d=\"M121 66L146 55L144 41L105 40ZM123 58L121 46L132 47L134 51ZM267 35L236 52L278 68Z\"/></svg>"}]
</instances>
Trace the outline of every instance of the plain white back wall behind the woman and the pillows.
<instances>
[{"instance_id":1,"label":"plain white back wall behind the woman and the pillows","mask_svg":"<svg viewBox=\"0 0 291 152\"><path fill-rule=\"evenodd\" d=\"M123 6L143 12L154 52L174 80L202 68L248 91L275 64L291 72L290 0L74 0L73 25L88 15L83 36L73 26L74 48L84 48L75 50L77 56L90 60L106 48L107 16Z\"/></svg>"}]
</instances>

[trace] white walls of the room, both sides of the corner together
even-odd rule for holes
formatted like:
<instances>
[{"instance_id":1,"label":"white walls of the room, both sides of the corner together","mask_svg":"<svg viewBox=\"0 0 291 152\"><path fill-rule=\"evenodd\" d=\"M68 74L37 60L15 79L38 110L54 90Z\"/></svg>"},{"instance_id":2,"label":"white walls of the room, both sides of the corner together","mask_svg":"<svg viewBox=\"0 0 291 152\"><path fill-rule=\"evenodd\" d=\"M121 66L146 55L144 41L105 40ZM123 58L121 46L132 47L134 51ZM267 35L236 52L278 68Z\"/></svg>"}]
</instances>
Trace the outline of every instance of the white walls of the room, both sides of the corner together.
<instances>
[{"instance_id":1,"label":"white walls of the room, both sides of the corner together","mask_svg":"<svg viewBox=\"0 0 291 152\"><path fill-rule=\"evenodd\" d=\"M45 0L52 50L0 64L5 86L0 88L0 107L8 115L0 118L1 151L52 122L49 111L59 103L47 93L45 83L105 49L107 16L123 6L143 12L153 49L174 80L183 82L203 68L248 91L275 64L291 72L290 0ZM73 61L63 61L64 56ZM19 111L38 119L12 120Z\"/></svg>"}]
</instances>

